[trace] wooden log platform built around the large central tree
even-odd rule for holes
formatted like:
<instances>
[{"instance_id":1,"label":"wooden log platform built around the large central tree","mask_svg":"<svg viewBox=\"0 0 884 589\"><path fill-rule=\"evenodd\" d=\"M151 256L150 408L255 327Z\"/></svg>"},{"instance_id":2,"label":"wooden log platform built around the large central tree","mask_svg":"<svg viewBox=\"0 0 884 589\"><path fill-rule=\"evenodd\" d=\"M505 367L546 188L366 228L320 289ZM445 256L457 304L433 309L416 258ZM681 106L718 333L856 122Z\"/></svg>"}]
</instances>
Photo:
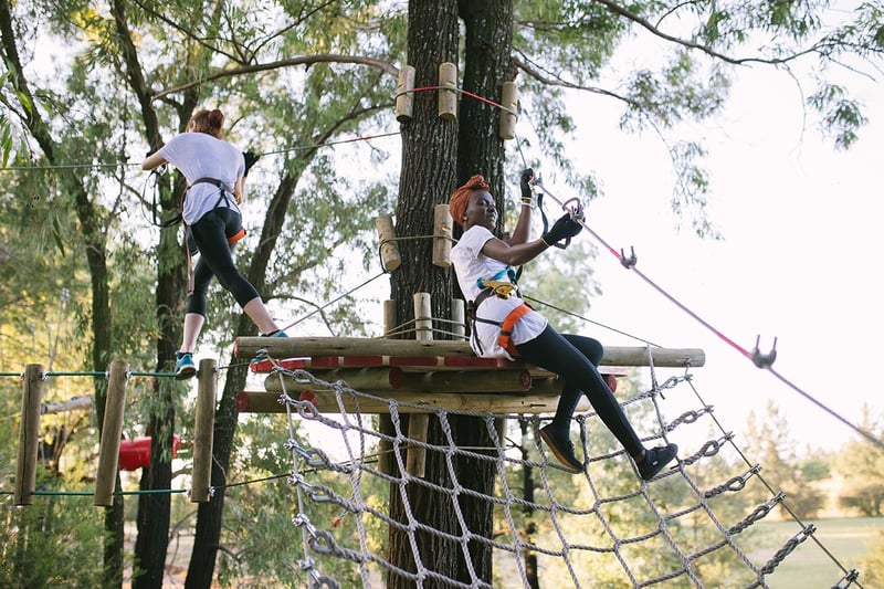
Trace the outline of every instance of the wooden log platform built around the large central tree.
<instances>
[{"instance_id":1,"label":"wooden log platform built around the large central tree","mask_svg":"<svg viewBox=\"0 0 884 589\"><path fill-rule=\"evenodd\" d=\"M242 391L238 396L240 412L284 412L280 397L309 399L320 412L341 410L364 413L387 413L386 399L419 407L399 407L402 413L430 412L435 409L462 409L495 413L554 412L561 392L557 375L535 366L505 358L478 358L466 341L419 341L407 339L335 338L335 337L242 337L234 353L240 358L267 358L252 365L255 372L267 374L264 391ZM699 349L644 347L606 348L600 372L611 390L617 377L628 367L703 366ZM334 383L343 381L361 395L345 393L338 399L334 390L309 381L299 381L274 371L306 370L316 379ZM586 398L578 410L588 409Z\"/></svg>"}]
</instances>

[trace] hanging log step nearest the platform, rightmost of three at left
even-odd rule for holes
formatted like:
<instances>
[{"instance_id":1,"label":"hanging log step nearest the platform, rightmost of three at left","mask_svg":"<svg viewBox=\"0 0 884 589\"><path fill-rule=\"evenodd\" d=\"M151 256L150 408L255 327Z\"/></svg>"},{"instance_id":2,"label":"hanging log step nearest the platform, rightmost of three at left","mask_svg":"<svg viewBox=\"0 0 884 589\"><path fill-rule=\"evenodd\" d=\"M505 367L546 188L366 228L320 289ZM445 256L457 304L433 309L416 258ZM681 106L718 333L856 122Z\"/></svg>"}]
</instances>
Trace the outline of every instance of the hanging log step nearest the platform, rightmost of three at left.
<instances>
[{"instance_id":1,"label":"hanging log step nearest the platform, rightmost of three at left","mask_svg":"<svg viewBox=\"0 0 884 589\"><path fill-rule=\"evenodd\" d=\"M214 358L200 360L199 389L194 416L193 472L190 475L190 502L206 503L210 498L212 477L212 435L214 430L214 400L218 389Z\"/></svg>"}]
</instances>

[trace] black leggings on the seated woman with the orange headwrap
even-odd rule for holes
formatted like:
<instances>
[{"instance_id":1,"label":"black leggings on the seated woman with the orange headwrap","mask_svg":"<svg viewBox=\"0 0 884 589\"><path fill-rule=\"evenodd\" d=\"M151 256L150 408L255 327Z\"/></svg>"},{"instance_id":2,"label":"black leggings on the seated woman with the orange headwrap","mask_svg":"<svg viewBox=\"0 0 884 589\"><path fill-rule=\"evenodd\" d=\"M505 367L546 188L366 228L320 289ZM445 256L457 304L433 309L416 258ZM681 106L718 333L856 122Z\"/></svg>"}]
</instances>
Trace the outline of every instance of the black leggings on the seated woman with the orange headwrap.
<instances>
[{"instance_id":1,"label":"black leggings on the seated woman with the orange headwrap","mask_svg":"<svg viewBox=\"0 0 884 589\"><path fill-rule=\"evenodd\" d=\"M554 427L567 431L582 391L627 452L631 456L642 453L644 445L597 368L604 354L604 348L598 340L559 334L547 325L539 336L519 344L516 350L519 360L539 366L565 379L561 399L552 420Z\"/></svg>"}]
</instances>

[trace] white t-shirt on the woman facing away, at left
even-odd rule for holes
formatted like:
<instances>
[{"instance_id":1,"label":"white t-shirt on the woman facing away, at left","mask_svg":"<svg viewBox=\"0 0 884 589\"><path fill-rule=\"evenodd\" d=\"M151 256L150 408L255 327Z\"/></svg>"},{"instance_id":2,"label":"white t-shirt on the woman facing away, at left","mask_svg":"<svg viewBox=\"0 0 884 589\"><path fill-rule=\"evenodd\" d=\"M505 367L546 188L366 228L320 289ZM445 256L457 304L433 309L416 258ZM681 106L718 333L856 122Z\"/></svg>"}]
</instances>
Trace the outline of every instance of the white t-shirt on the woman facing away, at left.
<instances>
[{"instance_id":1,"label":"white t-shirt on the woman facing away, at left","mask_svg":"<svg viewBox=\"0 0 884 589\"><path fill-rule=\"evenodd\" d=\"M245 173L245 159L238 148L206 133L182 133L172 137L158 154L181 170L191 187L181 213L187 224L192 225L215 206L240 211L233 196L233 185ZM214 178L229 188L220 204L218 186L206 182L193 185L199 178Z\"/></svg>"}]
</instances>

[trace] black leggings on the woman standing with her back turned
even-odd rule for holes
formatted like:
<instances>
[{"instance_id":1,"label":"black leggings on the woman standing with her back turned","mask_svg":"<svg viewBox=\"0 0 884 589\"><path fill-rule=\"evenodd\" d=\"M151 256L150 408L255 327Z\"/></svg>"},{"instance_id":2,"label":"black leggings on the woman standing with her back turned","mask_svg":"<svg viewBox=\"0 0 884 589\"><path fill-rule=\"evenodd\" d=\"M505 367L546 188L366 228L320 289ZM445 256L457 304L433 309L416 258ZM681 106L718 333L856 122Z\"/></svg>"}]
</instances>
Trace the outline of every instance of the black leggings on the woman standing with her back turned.
<instances>
[{"instance_id":1,"label":"black leggings on the woman standing with her back turned","mask_svg":"<svg viewBox=\"0 0 884 589\"><path fill-rule=\"evenodd\" d=\"M242 218L233 209L218 207L190 227L193 241L200 251L200 261L193 270L193 292L187 297L187 312L206 316L206 294L212 276L244 307L259 296L252 284L240 274L233 263L233 245L228 238L242 228Z\"/></svg>"}]
</instances>

